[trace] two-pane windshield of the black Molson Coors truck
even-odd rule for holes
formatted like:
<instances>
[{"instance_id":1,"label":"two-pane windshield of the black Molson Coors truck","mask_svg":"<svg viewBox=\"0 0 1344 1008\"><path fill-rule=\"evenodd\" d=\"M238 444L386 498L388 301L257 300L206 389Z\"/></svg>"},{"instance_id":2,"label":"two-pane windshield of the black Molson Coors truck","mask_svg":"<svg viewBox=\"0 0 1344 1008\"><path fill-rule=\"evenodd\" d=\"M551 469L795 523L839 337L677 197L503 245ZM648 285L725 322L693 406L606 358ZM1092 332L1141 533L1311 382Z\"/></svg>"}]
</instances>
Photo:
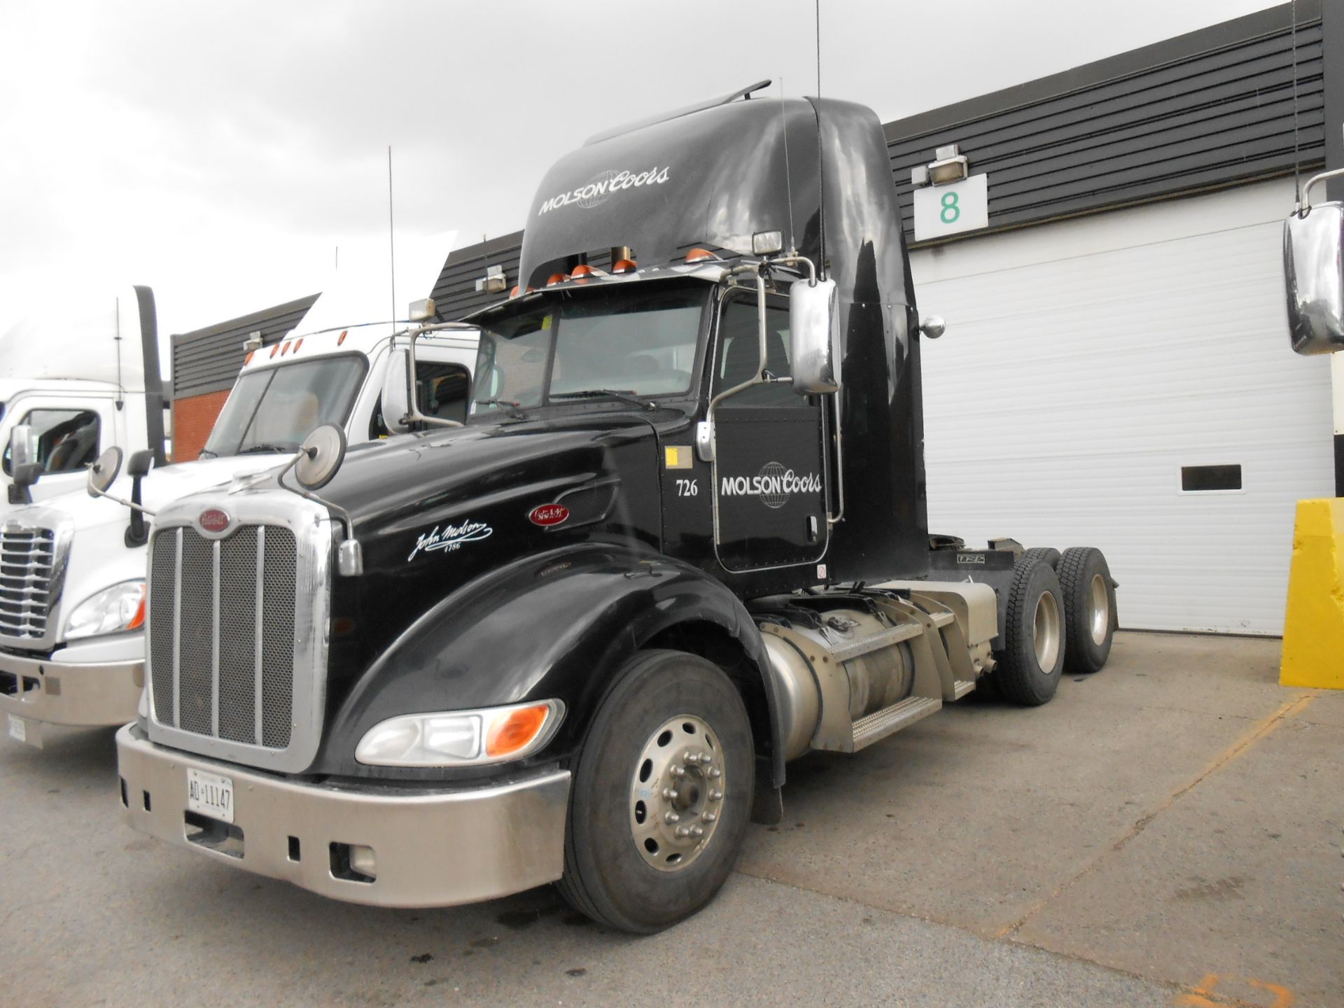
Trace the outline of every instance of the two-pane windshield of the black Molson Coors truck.
<instances>
[{"instance_id":1,"label":"two-pane windshield of the black Molson Coors truck","mask_svg":"<svg viewBox=\"0 0 1344 1008\"><path fill-rule=\"evenodd\" d=\"M581 392L689 391L708 292L699 282L564 292L482 324L472 413Z\"/></svg>"}]
</instances>

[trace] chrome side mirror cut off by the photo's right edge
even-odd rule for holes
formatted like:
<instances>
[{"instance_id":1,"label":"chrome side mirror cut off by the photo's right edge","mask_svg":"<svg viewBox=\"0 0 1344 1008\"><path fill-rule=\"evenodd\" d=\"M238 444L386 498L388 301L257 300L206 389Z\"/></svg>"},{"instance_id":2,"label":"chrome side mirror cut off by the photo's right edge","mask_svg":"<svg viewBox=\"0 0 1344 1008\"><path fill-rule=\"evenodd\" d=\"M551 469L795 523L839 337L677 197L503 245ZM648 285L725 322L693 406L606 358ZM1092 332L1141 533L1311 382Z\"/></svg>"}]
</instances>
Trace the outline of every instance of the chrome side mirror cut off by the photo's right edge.
<instances>
[{"instance_id":1,"label":"chrome side mirror cut off by the photo's right edge","mask_svg":"<svg viewBox=\"0 0 1344 1008\"><path fill-rule=\"evenodd\" d=\"M1298 353L1344 349L1344 203L1317 203L1284 223L1288 335Z\"/></svg>"}]
</instances>

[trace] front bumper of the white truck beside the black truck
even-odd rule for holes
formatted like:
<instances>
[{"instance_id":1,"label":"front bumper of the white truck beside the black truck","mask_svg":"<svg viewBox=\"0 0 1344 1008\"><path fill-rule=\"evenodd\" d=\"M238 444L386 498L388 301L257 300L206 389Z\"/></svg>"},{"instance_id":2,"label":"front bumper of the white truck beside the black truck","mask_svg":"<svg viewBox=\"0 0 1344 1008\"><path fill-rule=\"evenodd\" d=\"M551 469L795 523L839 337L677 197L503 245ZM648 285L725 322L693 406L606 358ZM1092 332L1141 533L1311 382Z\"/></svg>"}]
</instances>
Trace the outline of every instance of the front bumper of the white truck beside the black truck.
<instances>
[{"instance_id":1,"label":"front bumper of the white truck beside the black truck","mask_svg":"<svg viewBox=\"0 0 1344 1008\"><path fill-rule=\"evenodd\" d=\"M125 724L144 687L144 661L75 664L0 650L0 712L26 723Z\"/></svg>"}]
</instances>

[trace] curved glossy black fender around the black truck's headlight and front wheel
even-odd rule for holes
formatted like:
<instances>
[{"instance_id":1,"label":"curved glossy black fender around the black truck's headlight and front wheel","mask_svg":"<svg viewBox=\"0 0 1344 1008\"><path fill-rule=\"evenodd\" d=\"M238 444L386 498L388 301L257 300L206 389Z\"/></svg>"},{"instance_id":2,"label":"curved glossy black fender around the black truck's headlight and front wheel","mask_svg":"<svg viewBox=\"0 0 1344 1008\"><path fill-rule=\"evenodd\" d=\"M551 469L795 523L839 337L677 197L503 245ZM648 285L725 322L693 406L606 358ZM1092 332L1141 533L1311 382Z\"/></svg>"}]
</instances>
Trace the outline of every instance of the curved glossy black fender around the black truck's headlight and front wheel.
<instances>
[{"instance_id":1,"label":"curved glossy black fender around the black truck's headlight and front wheel","mask_svg":"<svg viewBox=\"0 0 1344 1008\"><path fill-rule=\"evenodd\" d=\"M353 684L325 732L314 770L442 780L444 770L355 762L364 732L401 714L560 699L564 722L531 762L564 761L617 669L659 633L712 624L761 676L782 784L778 703L761 634L742 602L700 570L659 554L583 544L523 558L462 585L411 624Z\"/></svg>"}]
</instances>

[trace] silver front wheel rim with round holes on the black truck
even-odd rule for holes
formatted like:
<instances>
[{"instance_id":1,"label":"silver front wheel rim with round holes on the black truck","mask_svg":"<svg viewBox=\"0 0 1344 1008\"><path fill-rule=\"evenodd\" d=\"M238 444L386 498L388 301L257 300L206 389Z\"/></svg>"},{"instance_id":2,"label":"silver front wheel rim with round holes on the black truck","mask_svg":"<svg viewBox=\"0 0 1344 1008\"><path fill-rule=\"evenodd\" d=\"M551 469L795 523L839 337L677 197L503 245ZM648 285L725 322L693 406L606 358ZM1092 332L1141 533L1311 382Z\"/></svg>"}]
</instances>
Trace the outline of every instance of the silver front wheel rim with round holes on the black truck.
<instances>
[{"instance_id":1,"label":"silver front wheel rim with round holes on the black truck","mask_svg":"<svg viewBox=\"0 0 1344 1008\"><path fill-rule=\"evenodd\" d=\"M659 871L683 871L714 839L723 817L719 739L702 718L679 714L649 735L630 777L630 833Z\"/></svg>"}]
</instances>

